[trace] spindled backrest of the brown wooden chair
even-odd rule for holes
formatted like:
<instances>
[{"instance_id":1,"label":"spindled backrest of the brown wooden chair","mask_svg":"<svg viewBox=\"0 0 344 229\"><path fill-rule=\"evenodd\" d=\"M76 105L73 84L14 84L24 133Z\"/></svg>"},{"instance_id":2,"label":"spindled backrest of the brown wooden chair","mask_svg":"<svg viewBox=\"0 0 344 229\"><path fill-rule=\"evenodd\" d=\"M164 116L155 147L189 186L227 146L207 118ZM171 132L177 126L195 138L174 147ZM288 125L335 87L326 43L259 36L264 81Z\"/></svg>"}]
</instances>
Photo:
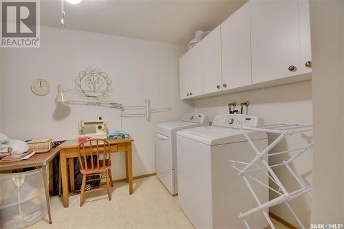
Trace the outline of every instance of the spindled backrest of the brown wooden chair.
<instances>
[{"instance_id":1,"label":"spindled backrest of the brown wooden chair","mask_svg":"<svg viewBox=\"0 0 344 229\"><path fill-rule=\"evenodd\" d=\"M100 158L100 155L103 155ZM91 168L87 165L87 156L90 157ZM94 160L96 157L96 160ZM80 169L82 170L99 170L110 165L110 144L103 139L89 139L80 142L78 146L78 158Z\"/></svg>"}]
</instances>

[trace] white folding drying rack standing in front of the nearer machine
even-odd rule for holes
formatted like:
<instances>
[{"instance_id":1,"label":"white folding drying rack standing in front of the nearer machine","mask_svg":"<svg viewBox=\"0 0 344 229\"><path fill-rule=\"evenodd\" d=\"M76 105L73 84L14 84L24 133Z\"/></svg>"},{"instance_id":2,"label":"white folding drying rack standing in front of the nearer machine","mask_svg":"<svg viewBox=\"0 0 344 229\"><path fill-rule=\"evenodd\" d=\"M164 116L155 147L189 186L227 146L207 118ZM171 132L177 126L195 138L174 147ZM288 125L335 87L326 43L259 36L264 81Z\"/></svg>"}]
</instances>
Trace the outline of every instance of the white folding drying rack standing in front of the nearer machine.
<instances>
[{"instance_id":1,"label":"white folding drying rack standing in front of the nearer machine","mask_svg":"<svg viewBox=\"0 0 344 229\"><path fill-rule=\"evenodd\" d=\"M268 215L268 208L272 206L276 206L277 204L286 204L287 208L290 210L292 213L293 217L297 220L299 223L299 226L302 229L305 229L305 226L301 223L299 217L296 215L294 210L292 210L290 204L288 201L291 201L292 199L299 197L303 194L308 195L310 198L310 201L312 199L312 186L306 186L303 184L301 178L290 168L289 164L293 160L297 159L301 154L305 153L306 151L312 155L312 143L307 143L301 138L301 133L305 133L308 131L312 131L313 127L312 125L301 125L301 124L270 124L270 125L265 125L261 127L241 127L241 131L244 134L246 140L249 142L250 146L252 146L252 149L255 151L255 157L252 161L250 162L238 162L234 160L228 160L228 162L231 162L230 166L235 168L237 171L239 171L238 175L241 176L244 179L244 182L246 183L246 186L248 186L248 189L250 190L250 193L253 195L255 201L257 201L257 207L252 208L244 213L240 212L239 213L239 219L244 219L246 216L257 212L261 211L264 214L264 217L268 221L270 227L272 229L275 229L274 224L272 223L269 215ZM252 142L250 137L248 136L248 133L246 131L257 131L257 132L264 132L264 133L275 133L278 134L279 136L268 146L263 150L259 151L255 144ZM301 148L299 149L292 149L288 151L280 151L277 153L268 153L272 148L274 148L281 140L286 138L287 135L291 135L294 137L300 144ZM283 160L281 163L278 164L273 164L269 165L266 158L274 155L281 155L283 153L295 153L292 155L288 160ZM263 164L263 166L258 166L257 164ZM244 168L238 168L236 164L241 164L244 166ZM276 175L276 173L272 170L272 168L275 168L277 166L286 166L292 177L297 181L299 184L300 188L297 190L294 190L292 192L288 192L286 190L286 187L282 184L281 180L279 177ZM252 177L250 173L255 172L255 171L263 171L268 177L277 184L279 187L279 190L275 190L274 188L271 188L270 186L264 184L263 182L259 181L255 177ZM258 182L259 184L265 186L266 188L269 188L270 190L273 190L275 193L279 194L279 197L276 197L275 199L271 199L270 201L267 201L266 203L261 203L259 198L257 197L257 194L255 193L255 190L252 188L250 182L248 182L248 178L251 178L255 182ZM248 222L246 219L244 219L244 223L246 228L250 228L248 225Z\"/></svg>"}]
</instances>

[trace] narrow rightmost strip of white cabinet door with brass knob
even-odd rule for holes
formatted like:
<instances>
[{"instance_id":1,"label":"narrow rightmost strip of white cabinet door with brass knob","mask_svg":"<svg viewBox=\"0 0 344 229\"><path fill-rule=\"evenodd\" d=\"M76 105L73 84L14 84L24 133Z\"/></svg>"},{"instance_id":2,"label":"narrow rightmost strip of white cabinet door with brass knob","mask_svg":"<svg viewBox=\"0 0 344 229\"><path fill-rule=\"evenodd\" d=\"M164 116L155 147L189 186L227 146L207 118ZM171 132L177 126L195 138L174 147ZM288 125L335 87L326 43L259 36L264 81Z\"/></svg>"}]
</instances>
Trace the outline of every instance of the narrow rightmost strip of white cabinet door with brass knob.
<instances>
[{"instance_id":1,"label":"narrow rightmost strip of white cabinet door with brass knob","mask_svg":"<svg viewBox=\"0 0 344 229\"><path fill-rule=\"evenodd\" d=\"M308 1L299 3L301 73L312 72L312 51L310 42L310 4Z\"/></svg>"}]
</instances>

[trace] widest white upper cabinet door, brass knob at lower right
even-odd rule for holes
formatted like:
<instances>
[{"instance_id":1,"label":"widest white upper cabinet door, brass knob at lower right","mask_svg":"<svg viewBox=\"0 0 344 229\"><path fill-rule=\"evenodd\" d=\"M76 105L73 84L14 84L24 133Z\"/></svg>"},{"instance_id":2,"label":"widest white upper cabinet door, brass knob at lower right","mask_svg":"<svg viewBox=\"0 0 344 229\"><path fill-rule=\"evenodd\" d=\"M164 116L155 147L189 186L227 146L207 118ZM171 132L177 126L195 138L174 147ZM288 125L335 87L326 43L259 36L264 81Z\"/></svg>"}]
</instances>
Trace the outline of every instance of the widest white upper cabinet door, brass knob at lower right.
<instances>
[{"instance_id":1,"label":"widest white upper cabinet door, brass knob at lower right","mask_svg":"<svg viewBox=\"0 0 344 229\"><path fill-rule=\"evenodd\" d=\"M250 25L252 83L300 74L297 1L250 1Z\"/></svg>"}]
</instances>

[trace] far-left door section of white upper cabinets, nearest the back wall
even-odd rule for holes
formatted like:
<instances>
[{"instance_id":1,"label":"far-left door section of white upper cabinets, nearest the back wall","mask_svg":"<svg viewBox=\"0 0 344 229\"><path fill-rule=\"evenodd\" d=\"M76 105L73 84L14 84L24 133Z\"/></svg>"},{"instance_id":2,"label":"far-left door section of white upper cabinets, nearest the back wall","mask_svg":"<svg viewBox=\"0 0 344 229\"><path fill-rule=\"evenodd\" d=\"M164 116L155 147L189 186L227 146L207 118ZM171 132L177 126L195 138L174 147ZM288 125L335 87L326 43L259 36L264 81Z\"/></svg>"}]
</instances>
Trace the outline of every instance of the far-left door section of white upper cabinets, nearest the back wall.
<instances>
[{"instance_id":1,"label":"far-left door section of white upper cabinets, nearest the back wall","mask_svg":"<svg viewBox=\"0 0 344 229\"><path fill-rule=\"evenodd\" d=\"M198 43L179 60L180 98L191 98L202 94L202 44ZM191 95L190 95L191 94Z\"/></svg>"}]
</instances>

